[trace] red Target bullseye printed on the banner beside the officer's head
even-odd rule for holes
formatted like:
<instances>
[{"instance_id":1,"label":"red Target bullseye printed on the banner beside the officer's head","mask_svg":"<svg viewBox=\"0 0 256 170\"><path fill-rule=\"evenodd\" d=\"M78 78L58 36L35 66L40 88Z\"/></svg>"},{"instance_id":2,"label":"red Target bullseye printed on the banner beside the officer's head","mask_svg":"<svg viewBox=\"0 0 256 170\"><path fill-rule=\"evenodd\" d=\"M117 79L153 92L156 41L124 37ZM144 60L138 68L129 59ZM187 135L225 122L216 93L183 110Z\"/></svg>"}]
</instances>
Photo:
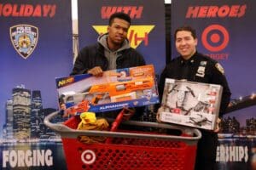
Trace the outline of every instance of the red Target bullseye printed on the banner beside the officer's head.
<instances>
[{"instance_id":1,"label":"red Target bullseye printed on the banner beside the officer's head","mask_svg":"<svg viewBox=\"0 0 256 170\"><path fill-rule=\"evenodd\" d=\"M230 35L224 26L211 25L202 32L201 42L209 51L218 52L226 48Z\"/></svg>"}]
</instances>

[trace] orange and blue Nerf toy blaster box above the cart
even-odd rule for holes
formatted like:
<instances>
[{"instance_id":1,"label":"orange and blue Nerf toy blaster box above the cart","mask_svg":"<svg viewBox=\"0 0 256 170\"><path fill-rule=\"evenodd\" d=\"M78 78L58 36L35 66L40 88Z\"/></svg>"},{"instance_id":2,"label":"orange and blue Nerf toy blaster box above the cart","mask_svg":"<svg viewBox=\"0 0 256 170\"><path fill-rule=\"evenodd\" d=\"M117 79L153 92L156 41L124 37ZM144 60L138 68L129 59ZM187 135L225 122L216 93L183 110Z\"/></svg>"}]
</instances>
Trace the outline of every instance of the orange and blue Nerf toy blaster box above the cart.
<instances>
[{"instance_id":1,"label":"orange and blue Nerf toy blaster box above the cart","mask_svg":"<svg viewBox=\"0 0 256 170\"><path fill-rule=\"evenodd\" d=\"M159 103L154 65L56 78L61 108L69 114L104 112Z\"/></svg>"}]
</instances>

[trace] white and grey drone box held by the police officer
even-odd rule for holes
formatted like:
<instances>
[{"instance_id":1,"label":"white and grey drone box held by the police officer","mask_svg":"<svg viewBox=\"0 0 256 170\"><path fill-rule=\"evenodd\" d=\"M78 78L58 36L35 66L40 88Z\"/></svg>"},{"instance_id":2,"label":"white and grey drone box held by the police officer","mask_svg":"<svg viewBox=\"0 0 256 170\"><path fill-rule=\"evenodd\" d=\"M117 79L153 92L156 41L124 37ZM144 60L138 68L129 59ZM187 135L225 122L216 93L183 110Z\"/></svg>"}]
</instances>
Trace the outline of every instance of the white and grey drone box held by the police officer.
<instances>
[{"instance_id":1,"label":"white and grey drone box held by the police officer","mask_svg":"<svg viewBox=\"0 0 256 170\"><path fill-rule=\"evenodd\" d=\"M222 86L166 78L160 121L214 130Z\"/></svg>"}]
</instances>

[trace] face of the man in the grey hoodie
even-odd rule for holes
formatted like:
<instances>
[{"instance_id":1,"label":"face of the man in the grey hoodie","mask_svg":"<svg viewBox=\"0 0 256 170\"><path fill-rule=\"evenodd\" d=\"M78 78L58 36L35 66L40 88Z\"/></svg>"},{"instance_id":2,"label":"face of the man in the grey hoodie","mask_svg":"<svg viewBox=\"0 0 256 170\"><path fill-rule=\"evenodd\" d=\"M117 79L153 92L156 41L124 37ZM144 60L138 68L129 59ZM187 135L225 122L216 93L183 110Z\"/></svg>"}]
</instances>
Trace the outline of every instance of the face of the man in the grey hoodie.
<instances>
[{"instance_id":1,"label":"face of the man in the grey hoodie","mask_svg":"<svg viewBox=\"0 0 256 170\"><path fill-rule=\"evenodd\" d=\"M130 27L129 22L121 20L119 18L113 19L111 26L108 26L108 37L111 43L120 45L124 42L128 29Z\"/></svg>"}]
</instances>

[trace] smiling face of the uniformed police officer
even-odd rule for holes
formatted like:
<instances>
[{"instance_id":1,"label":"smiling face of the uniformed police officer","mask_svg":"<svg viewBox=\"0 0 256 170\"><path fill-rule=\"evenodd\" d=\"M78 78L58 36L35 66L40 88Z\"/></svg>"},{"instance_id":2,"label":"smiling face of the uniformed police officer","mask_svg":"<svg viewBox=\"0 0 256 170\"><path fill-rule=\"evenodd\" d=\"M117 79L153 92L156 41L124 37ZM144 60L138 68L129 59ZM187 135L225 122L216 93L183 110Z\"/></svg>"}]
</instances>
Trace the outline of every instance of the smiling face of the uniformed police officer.
<instances>
[{"instance_id":1,"label":"smiling face of the uniformed police officer","mask_svg":"<svg viewBox=\"0 0 256 170\"><path fill-rule=\"evenodd\" d=\"M196 51L197 39L190 31L177 31L175 45L183 59L189 59Z\"/></svg>"}]
</instances>

